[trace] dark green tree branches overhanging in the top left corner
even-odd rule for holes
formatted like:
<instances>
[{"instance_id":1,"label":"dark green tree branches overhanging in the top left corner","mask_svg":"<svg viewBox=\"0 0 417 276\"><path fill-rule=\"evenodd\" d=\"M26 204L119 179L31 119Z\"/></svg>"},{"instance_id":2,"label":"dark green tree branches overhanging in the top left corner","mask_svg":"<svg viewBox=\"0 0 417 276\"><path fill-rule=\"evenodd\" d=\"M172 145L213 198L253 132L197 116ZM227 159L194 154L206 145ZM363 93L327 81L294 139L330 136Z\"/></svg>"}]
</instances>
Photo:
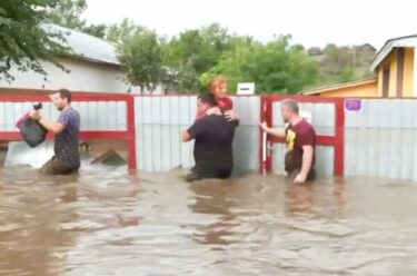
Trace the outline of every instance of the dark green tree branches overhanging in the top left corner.
<instances>
[{"instance_id":1,"label":"dark green tree branches overhanging in the top left corner","mask_svg":"<svg viewBox=\"0 0 417 276\"><path fill-rule=\"evenodd\" d=\"M62 34L51 33L41 23L57 0L14 0L0 2L0 78L12 80L10 69L47 75L41 60L59 67L54 53L68 51ZM62 67L61 67L62 68Z\"/></svg>"}]
</instances>

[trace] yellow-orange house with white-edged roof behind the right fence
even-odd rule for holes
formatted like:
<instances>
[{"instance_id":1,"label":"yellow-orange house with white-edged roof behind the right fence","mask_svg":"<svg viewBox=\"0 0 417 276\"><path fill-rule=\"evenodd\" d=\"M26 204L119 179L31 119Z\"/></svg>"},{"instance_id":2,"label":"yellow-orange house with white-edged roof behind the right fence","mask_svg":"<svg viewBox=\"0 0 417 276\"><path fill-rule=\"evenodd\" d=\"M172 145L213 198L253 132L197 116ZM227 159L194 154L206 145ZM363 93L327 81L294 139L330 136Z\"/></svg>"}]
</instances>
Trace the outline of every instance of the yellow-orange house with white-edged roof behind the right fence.
<instances>
[{"instance_id":1,"label":"yellow-orange house with white-edged roof behind the right fence","mask_svg":"<svg viewBox=\"0 0 417 276\"><path fill-rule=\"evenodd\" d=\"M417 97L417 34L388 40L371 61L374 79L302 91L334 97ZM368 47L368 46L367 46ZM369 46L371 47L371 46Z\"/></svg>"}]
</instances>

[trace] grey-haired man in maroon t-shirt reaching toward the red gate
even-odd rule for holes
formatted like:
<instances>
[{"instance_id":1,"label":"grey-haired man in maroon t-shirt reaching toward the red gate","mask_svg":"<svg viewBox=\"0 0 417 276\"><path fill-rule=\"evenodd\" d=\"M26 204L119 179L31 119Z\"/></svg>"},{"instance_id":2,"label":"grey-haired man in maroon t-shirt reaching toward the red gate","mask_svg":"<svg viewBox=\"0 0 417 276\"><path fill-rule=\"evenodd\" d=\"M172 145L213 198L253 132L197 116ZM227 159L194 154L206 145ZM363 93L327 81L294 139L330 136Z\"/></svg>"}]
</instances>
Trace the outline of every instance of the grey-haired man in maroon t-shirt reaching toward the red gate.
<instances>
[{"instance_id":1,"label":"grey-haired man in maroon t-shirt reaching toward the red gate","mask_svg":"<svg viewBox=\"0 0 417 276\"><path fill-rule=\"evenodd\" d=\"M265 132L271 136L286 138L287 154L285 168L288 177L295 183L314 180L315 174L315 150L316 132L312 126L304 120L298 114L298 105L294 100L284 100L281 112L286 129L269 128L266 122L260 124Z\"/></svg>"}]
</instances>

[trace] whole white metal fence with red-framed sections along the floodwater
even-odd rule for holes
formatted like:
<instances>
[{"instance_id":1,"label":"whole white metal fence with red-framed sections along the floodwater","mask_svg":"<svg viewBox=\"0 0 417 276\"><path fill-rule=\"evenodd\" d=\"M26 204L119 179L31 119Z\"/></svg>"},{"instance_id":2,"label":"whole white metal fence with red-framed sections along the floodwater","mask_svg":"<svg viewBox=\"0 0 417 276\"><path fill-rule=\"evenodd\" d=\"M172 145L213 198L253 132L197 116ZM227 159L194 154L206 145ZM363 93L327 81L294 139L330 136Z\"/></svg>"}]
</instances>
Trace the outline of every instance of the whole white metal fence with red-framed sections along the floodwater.
<instances>
[{"instance_id":1,"label":"whole white metal fence with red-framed sections along the floodwater","mask_svg":"<svg viewBox=\"0 0 417 276\"><path fill-rule=\"evenodd\" d=\"M14 124L39 100L33 95L18 98L0 96L0 140L20 138ZM274 126L282 127L279 107L284 97L264 96L271 99L269 106L262 106L259 96L232 99L241 117L234 144L236 170L259 171L262 162L260 109L270 108L262 111L270 114ZM337 158L331 139L342 128L345 176L417 180L417 99L361 99L360 109L354 111L340 110L338 102L344 99L324 102L320 100L325 98L318 97L295 99L301 101L302 115L321 138L316 164L319 175L334 175ZM43 112L57 118L58 111L48 98L41 96L40 100ZM196 96L79 96L73 106L82 118L83 139L135 137L129 140L131 168L157 172L193 166L192 142L181 142L180 134L193 122ZM271 171L284 174L285 147L275 142L271 148Z\"/></svg>"}]
</instances>

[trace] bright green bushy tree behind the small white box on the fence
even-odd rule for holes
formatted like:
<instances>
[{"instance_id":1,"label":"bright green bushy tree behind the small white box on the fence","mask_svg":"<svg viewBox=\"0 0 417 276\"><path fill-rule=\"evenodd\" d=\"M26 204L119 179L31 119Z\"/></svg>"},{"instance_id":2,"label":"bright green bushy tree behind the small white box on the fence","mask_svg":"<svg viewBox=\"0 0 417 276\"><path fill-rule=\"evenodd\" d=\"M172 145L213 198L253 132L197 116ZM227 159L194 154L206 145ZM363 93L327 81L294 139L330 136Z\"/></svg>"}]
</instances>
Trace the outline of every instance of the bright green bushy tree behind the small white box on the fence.
<instances>
[{"instance_id":1,"label":"bright green bushy tree behind the small white box on the fence","mask_svg":"<svg viewBox=\"0 0 417 276\"><path fill-rule=\"evenodd\" d=\"M316 70L305 50L291 47L289 40L290 37L280 37L261 45L237 39L232 50L225 52L209 73L228 77L231 91L236 91L237 82L249 81L262 92L298 92L315 81ZM207 78L203 76L201 81Z\"/></svg>"}]
</instances>

